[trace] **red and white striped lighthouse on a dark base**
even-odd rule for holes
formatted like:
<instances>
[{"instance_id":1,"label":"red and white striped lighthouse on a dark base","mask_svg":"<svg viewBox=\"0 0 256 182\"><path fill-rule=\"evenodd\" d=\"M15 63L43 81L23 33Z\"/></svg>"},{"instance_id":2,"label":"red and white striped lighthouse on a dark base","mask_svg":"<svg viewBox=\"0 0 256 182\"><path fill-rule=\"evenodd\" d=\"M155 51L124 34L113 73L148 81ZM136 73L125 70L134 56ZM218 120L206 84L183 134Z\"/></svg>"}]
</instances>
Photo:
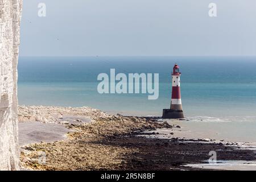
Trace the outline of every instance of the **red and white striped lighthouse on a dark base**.
<instances>
[{"instance_id":1,"label":"red and white striped lighthouse on a dark base","mask_svg":"<svg viewBox=\"0 0 256 182\"><path fill-rule=\"evenodd\" d=\"M163 109L163 119L184 118L180 94L180 68L174 65L172 71L172 98L170 109Z\"/></svg>"}]
</instances>

